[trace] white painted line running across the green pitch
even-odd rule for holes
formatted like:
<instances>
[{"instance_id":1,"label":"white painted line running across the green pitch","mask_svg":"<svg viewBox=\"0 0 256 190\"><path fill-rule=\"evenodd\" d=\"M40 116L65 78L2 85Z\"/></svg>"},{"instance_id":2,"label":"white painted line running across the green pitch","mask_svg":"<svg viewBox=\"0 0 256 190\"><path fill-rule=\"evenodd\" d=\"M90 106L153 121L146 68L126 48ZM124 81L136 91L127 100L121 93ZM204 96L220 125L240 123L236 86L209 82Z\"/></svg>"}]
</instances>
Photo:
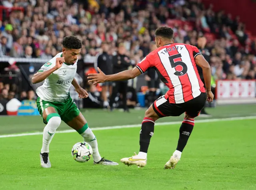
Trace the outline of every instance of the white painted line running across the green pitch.
<instances>
[{"instance_id":1,"label":"white painted line running across the green pitch","mask_svg":"<svg viewBox=\"0 0 256 190\"><path fill-rule=\"evenodd\" d=\"M256 119L256 116L196 120L196 123L249 120L249 119ZM179 122L159 122L159 123L156 123L155 125L156 126L158 126L158 125L176 125L176 124L180 124L180 123L181 123L181 121L179 121ZM134 127L140 127L140 126L141 126L141 124L135 124L135 125L121 125L121 126L109 126L109 127L96 127L96 128L91 128L91 129L92 130L109 130L109 129L134 128ZM56 131L56 133L72 133L72 132L76 132L76 130L70 129L70 130ZM0 138L17 137L17 136L32 136L32 135L42 135L42 134L43 134L43 132L6 134L6 135L0 135Z\"/></svg>"}]
</instances>

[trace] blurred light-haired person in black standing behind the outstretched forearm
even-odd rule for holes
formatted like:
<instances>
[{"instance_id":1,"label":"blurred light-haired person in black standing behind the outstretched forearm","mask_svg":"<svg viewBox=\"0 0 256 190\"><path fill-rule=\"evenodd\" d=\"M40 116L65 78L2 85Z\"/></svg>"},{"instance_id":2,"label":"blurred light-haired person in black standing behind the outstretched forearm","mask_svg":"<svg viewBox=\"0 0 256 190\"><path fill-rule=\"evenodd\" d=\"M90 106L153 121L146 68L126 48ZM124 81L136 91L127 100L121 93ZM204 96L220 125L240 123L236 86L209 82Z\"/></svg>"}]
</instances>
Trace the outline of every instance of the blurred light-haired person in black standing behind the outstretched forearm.
<instances>
[{"instance_id":1,"label":"blurred light-haired person in black standing behind the outstretched forearm","mask_svg":"<svg viewBox=\"0 0 256 190\"><path fill-rule=\"evenodd\" d=\"M112 58L112 64L113 64L113 74L116 74L118 72L122 72L124 70L127 70L129 66L131 66L131 60L128 56L126 56L126 48L124 44L119 44L118 46L118 52L115 56ZM113 91L110 98L110 109L113 109L113 104L115 102L115 98L118 93L122 94L122 103L123 103L123 109L125 112L129 112L127 108L127 89L128 89L128 82L127 81L117 81L112 83Z\"/></svg>"}]
</instances>

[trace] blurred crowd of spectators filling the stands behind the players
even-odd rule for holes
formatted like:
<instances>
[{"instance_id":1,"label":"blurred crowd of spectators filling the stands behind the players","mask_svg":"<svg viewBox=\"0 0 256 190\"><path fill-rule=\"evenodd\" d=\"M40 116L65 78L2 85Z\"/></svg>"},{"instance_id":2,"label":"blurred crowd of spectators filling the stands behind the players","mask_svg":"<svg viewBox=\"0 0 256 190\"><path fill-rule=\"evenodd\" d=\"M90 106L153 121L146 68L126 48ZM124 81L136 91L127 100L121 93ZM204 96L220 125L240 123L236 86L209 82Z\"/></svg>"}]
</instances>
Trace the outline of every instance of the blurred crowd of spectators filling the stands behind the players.
<instances>
[{"instance_id":1,"label":"blurred crowd of spectators filling the stands behind the players","mask_svg":"<svg viewBox=\"0 0 256 190\"><path fill-rule=\"evenodd\" d=\"M214 80L255 79L256 40L239 16L214 12L201 0L3 0L0 57L50 59L62 50L64 36L82 40L79 60L97 62L104 51L112 59L121 44L130 66L150 52L154 31L174 29L177 43L198 46ZM198 44L200 37L206 42ZM108 45L102 49L102 42Z\"/></svg>"}]
</instances>

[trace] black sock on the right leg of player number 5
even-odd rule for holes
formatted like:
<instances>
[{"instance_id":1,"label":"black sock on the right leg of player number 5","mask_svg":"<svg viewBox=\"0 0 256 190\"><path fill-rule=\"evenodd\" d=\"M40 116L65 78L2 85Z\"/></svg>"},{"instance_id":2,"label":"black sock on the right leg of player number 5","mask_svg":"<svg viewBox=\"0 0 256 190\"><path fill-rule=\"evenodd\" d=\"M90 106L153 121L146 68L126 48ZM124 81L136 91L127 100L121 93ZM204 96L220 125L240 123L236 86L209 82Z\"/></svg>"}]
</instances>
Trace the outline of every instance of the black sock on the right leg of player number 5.
<instances>
[{"instance_id":1,"label":"black sock on the right leg of player number 5","mask_svg":"<svg viewBox=\"0 0 256 190\"><path fill-rule=\"evenodd\" d=\"M176 150L182 152L185 148L188 138L190 137L192 130L194 128L194 119L185 119L183 120L181 126L180 126L180 137L178 140L178 146Z\"/></svg>"}]
</instances>

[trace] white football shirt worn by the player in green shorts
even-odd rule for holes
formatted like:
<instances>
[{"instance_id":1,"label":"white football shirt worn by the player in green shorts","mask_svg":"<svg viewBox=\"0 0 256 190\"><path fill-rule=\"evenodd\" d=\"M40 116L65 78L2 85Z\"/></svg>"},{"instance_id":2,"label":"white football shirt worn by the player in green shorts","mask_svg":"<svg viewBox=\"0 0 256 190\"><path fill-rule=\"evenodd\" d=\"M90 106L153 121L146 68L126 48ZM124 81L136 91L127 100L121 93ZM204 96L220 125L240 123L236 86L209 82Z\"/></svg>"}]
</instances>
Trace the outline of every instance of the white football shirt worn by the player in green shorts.
<instances>
[{"instance_id":1,"label":"white football shirt worn by the player in green shorts","mask_svg":"<svg viewBox=\"0 0 256 190\"><path fill-rule=\"evenodd\" d=\"M62 52L44 64L38 72L43 72L56 65L56 58L62 57ZM76 75L77 60L73 65L65 63L44 80L44 84L36 89L36 94L44 101L63 102L70 97L70 86Z\"/></svg>"}]
</instances>

